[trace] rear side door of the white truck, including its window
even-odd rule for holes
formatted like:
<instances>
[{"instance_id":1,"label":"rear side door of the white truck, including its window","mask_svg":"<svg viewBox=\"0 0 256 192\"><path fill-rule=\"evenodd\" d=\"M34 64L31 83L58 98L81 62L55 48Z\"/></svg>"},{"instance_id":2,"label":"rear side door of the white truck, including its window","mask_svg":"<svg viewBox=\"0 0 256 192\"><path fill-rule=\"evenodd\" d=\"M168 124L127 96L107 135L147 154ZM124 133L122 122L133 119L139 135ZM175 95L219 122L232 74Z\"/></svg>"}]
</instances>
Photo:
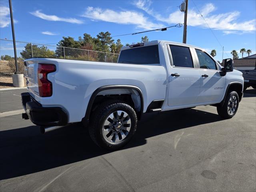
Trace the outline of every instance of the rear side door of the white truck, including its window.
<instances>
[{"instance_id":1,"label":"rear side door of the white truck, including its window","mask_svg":"<svg viewBox=\"0 0 256 192\"><path fill-rule=\"evenodd\" d=\"M195 104L200 91L201 75L194 67L192 48L168 45L171 68L169 72L168 106ZM196 64L195 64L196 66Z\"/></svg>"}]
</instances>

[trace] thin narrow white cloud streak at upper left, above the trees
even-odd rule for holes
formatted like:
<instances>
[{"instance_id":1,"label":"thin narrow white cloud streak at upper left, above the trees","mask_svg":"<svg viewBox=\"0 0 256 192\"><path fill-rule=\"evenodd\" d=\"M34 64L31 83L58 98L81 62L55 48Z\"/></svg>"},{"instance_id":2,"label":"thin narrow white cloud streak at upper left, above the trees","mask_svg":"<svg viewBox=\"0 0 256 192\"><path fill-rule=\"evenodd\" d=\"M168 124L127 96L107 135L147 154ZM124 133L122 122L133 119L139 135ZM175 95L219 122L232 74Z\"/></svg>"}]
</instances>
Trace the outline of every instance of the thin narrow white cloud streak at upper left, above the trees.
<instances>
[{"instance_id":1,"label":"thin narrow white cloud streak at upper left, above the trees","mask_svg":"<svg viewBox=\"0 0 256 192\"><path fill-rule=\"evenodd\" d=\"M75 19L75 18L61 18L56 15L46 15L42 13L40 10L36 10L34 12L30 12L30 14L39 17L44 20L48 21L63 21L68 23L76 23L76 24L82 24L83 22L81 20Z\"/></svg>"}]
</instances>

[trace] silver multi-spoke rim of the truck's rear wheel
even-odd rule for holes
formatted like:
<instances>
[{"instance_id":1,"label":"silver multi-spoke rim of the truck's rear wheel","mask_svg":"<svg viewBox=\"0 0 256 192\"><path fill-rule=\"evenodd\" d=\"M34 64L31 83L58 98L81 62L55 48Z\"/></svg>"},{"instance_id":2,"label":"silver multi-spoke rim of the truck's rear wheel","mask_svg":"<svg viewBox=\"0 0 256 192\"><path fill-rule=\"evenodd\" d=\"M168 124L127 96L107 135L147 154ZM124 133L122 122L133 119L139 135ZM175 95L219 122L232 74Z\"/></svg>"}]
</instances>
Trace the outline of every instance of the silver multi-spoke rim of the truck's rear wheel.
<instances>
[{"instance_id":1,"label":"silver multi-spoke rim of the truck's rear wheel","mask_svg":"<svg viewBox=\"0 0 256 192\"><path fill-rule=\"evenodd\" d=\"M129 134L131 128L130 116L120 110L111 113L102 127L104 139L108 142L117 143Z\"/></svg>"}]
</instances>

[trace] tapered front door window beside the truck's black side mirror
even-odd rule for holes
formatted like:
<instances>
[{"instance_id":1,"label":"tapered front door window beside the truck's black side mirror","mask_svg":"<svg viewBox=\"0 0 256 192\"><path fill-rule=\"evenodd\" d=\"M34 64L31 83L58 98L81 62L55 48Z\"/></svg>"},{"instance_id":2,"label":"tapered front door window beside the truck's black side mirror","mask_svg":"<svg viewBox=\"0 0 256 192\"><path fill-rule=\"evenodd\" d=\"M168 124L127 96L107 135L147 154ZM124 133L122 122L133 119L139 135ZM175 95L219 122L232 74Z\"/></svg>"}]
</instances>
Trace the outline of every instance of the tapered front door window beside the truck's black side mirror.
<instances>
[{"instance_id":1,"label":"tapered front door window beside the truck's black side mirror","mask_svg":"<svg viewBox=\"0 0 256 192\"><path fill-rule=\"evenodd\" d=\"M196 54L199 60L200 68L201 69L213 69L217 70L216 63L208 54L205 52L196 49Z\"/></svg>"}]
</instances>

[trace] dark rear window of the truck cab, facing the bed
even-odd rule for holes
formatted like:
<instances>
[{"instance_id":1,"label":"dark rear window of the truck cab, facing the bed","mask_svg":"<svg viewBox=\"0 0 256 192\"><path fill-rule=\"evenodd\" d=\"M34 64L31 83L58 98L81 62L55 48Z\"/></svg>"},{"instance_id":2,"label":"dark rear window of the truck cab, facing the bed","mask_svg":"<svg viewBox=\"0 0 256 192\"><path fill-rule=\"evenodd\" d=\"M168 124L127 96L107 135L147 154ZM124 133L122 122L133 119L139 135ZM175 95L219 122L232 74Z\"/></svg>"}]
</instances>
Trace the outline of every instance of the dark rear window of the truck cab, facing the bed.
<instances>
[{"instance_id":1,"label":"dark rear window of the truck cab, facing the bed","mask_svg":"<svg viewBox=\"0 0 256 192\"><path fill-rule=\"evenodd\" d=\"M159 64L158 45L122 50L118 63Z\"/></svg>"}]
</instances>

